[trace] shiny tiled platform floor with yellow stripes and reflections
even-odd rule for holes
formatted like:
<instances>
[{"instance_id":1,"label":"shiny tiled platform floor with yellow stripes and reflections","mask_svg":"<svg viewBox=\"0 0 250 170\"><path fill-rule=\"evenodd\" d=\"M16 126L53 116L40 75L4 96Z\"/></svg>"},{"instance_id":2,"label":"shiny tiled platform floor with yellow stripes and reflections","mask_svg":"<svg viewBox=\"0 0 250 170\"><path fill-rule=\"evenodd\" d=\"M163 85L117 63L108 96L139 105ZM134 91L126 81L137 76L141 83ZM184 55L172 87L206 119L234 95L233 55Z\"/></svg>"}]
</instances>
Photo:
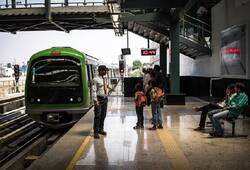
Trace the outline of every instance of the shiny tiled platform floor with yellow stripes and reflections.
<instances>
[{"instance_id":1,"label":"shiny tiled platform floor with yellow stripes and reflections","mask_svg":"<svg viewBox=\"0 0 250 170\"><path fill-rule=\"evenodd\" d=\"M229 137L231 125L224 124L224 138L210 137L207 127L194 131L200 113L193 107L206 102L186 97L184 106L162 108L163 129L151 127L150 107L144 109L144 129L134 130L136 114L133 98L113 93L109 97L105 131L93 138L94 112L91 109L29 170L52 169L250 169L250 139ZM236 134L250 133L250 119L236 121Z\"/></svg>"}]
</instances>

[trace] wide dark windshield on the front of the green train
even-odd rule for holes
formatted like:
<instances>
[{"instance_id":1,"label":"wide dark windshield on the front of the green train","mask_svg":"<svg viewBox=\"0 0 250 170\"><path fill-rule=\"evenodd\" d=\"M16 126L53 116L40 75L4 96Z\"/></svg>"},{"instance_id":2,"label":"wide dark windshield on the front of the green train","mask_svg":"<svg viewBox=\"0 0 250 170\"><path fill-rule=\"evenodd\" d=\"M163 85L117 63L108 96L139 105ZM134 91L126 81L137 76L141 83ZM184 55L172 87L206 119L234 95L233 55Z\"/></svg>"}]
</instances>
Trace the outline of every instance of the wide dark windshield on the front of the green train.
<instances>
[{"instance_id":1,"label":"wide dark windshield on the front of the green train","mask_svg":"<svg viewBox=\"0 0 250 170\"><path fill-rule=\"evenodd\" d=\"M46 58L32 64L29 82L34 86L80 86L80 63L69 58Z\"/></svg>"}]
</instances>

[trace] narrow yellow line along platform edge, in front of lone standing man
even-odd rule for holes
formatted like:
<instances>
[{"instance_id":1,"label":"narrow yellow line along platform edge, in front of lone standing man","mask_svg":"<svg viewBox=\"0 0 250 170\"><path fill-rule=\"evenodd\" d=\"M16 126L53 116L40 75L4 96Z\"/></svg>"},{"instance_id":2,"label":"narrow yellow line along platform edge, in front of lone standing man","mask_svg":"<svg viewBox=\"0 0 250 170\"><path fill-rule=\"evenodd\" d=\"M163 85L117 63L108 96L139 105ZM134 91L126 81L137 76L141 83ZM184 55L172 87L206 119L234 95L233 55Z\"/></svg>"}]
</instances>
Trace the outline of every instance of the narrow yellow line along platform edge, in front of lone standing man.
<instances>
[{"instance_id":1,"label":"narrow yellow line along platform edge, in front of lone standing man","mask_svg":"<svg viewBox=\"0 0 250 170\"><path fill-rule=\"evenodd\" d=\"M74 167L75 167L75 165L76 165L76 162L80 159L80 157L82 156L82 153L83 153L84 150L86 149L86 147L87 147L87 145L88 145L88 143L89 143L89 141L90 141L90 138L91 138L90 136L87 136L87 137L83 140L83 142L82 142L80 148L79 148L79 149L77 150L77 152L75 153L74 157L73 157L72 160L70 161L70 163L69 163L68 167L66 168L66 170L73 170L73 169L74 169Z\"/></svg>"}]
</instances>

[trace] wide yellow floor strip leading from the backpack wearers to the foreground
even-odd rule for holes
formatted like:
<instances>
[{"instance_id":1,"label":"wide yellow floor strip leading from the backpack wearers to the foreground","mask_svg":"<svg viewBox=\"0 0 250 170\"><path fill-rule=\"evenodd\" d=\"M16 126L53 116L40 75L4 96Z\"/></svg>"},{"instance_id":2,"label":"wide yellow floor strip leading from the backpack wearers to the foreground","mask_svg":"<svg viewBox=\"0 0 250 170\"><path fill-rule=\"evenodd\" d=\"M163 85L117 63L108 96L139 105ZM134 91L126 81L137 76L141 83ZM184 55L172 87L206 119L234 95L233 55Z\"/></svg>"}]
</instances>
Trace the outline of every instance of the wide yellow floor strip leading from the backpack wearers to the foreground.
<instances>
[{"instance_id":1,"label":"wide yellow floor strip leading from the backpack wearers to the foreground","mask_svg":"<svg viewBox=\"0 0 250 170\"><path fill-rule=\"evenodd\" d=\"M164 129L157 129L157 133L173 168L175 170L192 170L192 165L167 127L164 126Z\"/></svg>"}]
</instances>

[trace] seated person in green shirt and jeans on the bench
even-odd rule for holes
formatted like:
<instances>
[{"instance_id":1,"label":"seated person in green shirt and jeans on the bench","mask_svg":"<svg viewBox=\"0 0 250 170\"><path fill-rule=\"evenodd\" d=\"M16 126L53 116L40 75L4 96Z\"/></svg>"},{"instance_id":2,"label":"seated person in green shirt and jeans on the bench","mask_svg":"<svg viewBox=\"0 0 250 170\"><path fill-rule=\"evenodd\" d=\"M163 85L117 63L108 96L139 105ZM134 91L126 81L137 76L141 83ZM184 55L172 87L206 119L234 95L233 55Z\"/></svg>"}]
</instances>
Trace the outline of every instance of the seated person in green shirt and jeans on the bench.
<instances>
[{"instance_id":1,"label":"seated person in green shirt and jeans on the bench","mask_svg":"<svg viewBox=\"0 0 250 170\"><path fill-rule=\"evenodd\" d=\"M210 111L208 117L212 121L213 131L211 136L222 136L224 131L220 124L220 119L237 119L242 109L248 104L248 96L245 93L245 85L243 83L235 84L236 95L229 101L228 106L219 112Z\"/></svg>"}]
</instances>

